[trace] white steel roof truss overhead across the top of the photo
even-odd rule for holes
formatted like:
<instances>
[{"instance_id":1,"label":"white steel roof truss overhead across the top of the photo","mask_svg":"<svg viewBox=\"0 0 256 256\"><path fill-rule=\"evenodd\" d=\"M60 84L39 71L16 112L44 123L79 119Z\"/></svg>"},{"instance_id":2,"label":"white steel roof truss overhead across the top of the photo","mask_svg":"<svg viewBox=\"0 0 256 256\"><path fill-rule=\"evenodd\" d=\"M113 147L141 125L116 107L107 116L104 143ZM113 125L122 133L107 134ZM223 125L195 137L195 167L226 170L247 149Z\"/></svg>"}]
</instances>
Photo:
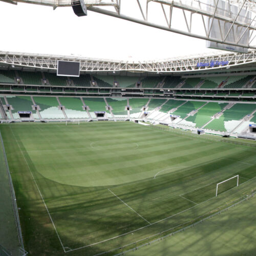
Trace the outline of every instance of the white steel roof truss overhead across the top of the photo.
<instances>
[{"instance_id":1,"label":"white steel roof truss overhead across the top of the photo","mask_svg":"<svg viewBox=\"0 0 256 256\"><path fill-rule=\"evenodd\" d=\"M0 0L57 7L74 0ZM256 49L256 3L253 0L81 0L93 12L146 26L243 49ZM233 6L236 6L234 11ZM242 11L243 10L243 11ZM242 11L242 12L241 12ZM243 13L243 14L242 14ZM241 16L242 15L242 16ZM218 23L218 28L214 25ZM224 27L228 29L224 29ZM218 30L211 33L212 30ZM230 39L230 35L233 35ZM246 41L243 36L248 35ZM232 50L232 49L230 49Z\"/></svg>"}]
</instances>

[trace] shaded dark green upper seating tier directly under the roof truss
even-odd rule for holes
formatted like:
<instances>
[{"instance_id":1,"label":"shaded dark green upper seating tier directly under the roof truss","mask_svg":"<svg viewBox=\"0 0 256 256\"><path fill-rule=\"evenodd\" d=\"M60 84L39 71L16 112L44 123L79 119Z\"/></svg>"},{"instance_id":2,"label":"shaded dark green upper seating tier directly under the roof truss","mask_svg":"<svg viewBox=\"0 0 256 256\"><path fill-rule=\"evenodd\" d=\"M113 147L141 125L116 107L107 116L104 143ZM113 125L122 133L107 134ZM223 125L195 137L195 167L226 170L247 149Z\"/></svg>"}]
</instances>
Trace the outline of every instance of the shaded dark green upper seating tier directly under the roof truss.
<instances>
[{"instance_id":1,"label":"shaded dark green upper seating tier directly under the roof truss","mask_svg":"<svg viewBox=\"0 0 256 256\"><path fill-rule=\"evenodd\" d=\"M0 70L0 84L33 86L96 87L96 88L148 88L148 89L242 89L256 88L256 76L231 75L182 78L180 76L119 76L80 75L57 76L47 72Z\"/></svg>"}]
</instances>

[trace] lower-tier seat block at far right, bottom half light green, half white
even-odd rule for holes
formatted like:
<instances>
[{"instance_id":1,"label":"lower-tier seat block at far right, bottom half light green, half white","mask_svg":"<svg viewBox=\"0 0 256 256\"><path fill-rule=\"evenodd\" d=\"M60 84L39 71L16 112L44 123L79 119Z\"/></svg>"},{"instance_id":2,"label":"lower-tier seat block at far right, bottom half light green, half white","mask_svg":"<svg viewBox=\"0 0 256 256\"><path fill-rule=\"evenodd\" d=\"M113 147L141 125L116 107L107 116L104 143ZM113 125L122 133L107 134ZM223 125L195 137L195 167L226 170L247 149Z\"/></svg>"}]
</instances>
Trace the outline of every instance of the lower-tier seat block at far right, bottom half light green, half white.
<instances>
[{"instance_id":1,"label":"lower-tier seat block at far right, bottom half light green, half white","mask_svg":"<svg viewBox=\"0 0 256 256\"><path fill-rule=\"evenodd\" d=\"M205 129L232 132L241 123L241 120L246 115L251 114L255 108L255 104L234 104L230 109L225 110L218 119L209 122Z\"/></svg>"}]
</instances>

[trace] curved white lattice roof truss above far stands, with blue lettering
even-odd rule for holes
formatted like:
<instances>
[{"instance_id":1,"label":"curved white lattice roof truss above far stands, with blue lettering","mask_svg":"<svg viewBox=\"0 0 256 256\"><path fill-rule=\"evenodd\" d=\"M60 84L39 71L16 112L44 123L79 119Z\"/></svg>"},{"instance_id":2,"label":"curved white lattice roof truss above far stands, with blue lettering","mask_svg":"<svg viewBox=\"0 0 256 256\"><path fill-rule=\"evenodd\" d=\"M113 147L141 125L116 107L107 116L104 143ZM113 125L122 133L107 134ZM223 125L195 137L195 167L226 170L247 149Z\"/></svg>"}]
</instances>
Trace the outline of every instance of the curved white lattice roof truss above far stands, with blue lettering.
<instances>
[{"instance_id":1,"label":"curved white lattice roof truss above far stands, with blue lettering","mask_svg":"<svg viewBox=\"0 0 256 256\"><path fill-rule=\"evenodd\" d=\"M92 59L75 56L43 55L0 51L1 66L15 66L41 70L56 70L58 60L79 61L83 72L147 72L147 73L184 73L218 70L236 66L247 66L256 62L256 51L248 53L200 54L163 61L128 62L106 59ZM214 65L200 66L200 63ZM226 63L222 66L222 63Z\"/></svg>"}]
</instances>

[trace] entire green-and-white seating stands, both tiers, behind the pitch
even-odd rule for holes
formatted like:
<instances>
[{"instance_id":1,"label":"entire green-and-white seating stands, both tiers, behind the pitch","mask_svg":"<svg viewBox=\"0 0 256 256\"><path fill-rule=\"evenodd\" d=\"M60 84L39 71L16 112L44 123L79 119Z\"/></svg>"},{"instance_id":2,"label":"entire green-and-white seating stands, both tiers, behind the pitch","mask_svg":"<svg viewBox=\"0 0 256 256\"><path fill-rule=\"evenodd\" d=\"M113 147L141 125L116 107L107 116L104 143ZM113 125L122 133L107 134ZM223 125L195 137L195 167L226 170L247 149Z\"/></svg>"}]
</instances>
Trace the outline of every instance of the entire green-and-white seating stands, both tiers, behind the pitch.
<instances>
[{"instance_id":1,"label":"entire green-and-white seating stands, both tiers, behind the pitch","mask_svg":"<svg viewBox=\"0 0 256 256\"><path fill-rule=\"evenodd\" d=\"M0 70L2 122L134 120L256 139L256 72L193 75ZM255 75L253 75L255 73Z\"/></svg>"}]
</instances>

